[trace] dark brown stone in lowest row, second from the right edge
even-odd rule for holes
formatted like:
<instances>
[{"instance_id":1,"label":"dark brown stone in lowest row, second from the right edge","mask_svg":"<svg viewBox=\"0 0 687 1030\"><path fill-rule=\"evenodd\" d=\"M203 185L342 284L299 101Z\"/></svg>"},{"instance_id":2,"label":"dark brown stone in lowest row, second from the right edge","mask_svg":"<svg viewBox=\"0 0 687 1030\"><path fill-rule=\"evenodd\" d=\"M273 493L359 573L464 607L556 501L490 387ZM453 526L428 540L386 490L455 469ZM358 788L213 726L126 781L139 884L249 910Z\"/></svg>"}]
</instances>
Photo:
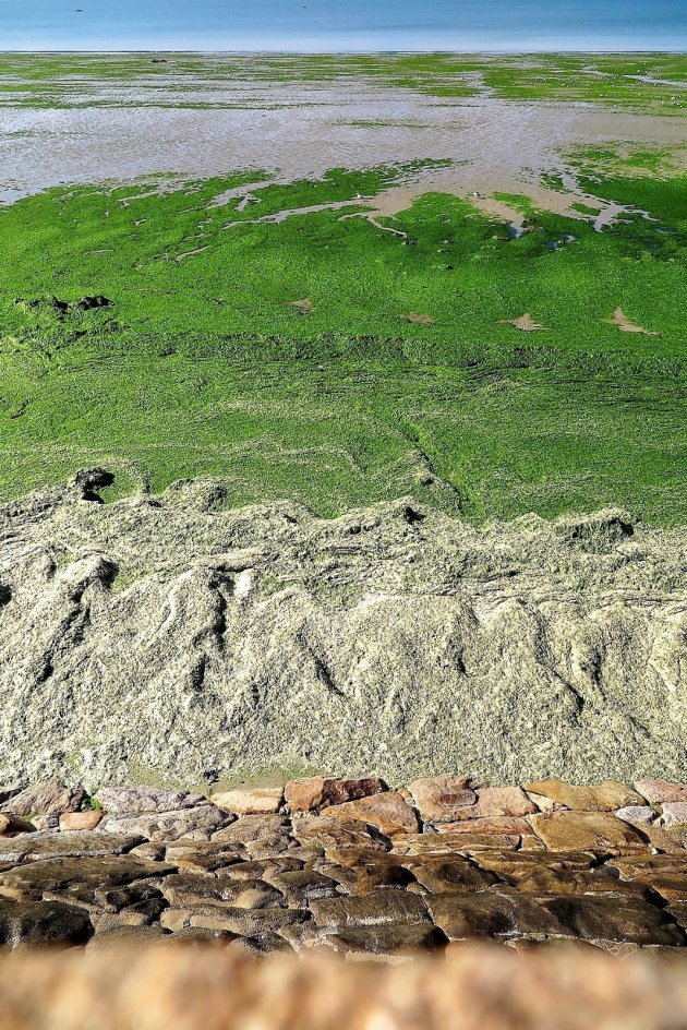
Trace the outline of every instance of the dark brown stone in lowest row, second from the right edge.
<instances>
[{"instance_id":1,"label":"dark brown stone in lowest row, second from the right edge","mask_svg":"<svg viewBox=\"0 0 687 1030\"><path fill-rule=\"evenodd\" d=\"M566 936L554 914L527 895L507 888L479 894L426 896L435 924L450 941L506 936ZM570 936L570 934L567 934Z\"/></svg>"}]
</instances>

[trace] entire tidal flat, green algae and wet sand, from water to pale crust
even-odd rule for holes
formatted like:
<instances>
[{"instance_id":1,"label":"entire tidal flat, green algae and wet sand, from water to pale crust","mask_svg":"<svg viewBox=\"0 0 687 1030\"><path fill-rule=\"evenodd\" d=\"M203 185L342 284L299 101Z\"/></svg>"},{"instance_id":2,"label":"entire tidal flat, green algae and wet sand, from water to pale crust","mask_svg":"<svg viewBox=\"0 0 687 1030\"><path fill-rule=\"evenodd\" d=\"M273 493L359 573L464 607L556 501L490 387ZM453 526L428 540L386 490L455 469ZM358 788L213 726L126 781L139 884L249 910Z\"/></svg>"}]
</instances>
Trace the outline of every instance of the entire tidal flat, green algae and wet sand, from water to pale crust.
<instances>
[{"instance_id":1,"label":"entire tidal flat, green algae and wet sand, from water to pale crust","mask_svg":"<svg viewBox=\"0 0 687 1030\"><path fill-rule=\"evenodd\" d=\"M687 58L0 59L0 495L683 523Z\"/></svg>"}]
</instances>

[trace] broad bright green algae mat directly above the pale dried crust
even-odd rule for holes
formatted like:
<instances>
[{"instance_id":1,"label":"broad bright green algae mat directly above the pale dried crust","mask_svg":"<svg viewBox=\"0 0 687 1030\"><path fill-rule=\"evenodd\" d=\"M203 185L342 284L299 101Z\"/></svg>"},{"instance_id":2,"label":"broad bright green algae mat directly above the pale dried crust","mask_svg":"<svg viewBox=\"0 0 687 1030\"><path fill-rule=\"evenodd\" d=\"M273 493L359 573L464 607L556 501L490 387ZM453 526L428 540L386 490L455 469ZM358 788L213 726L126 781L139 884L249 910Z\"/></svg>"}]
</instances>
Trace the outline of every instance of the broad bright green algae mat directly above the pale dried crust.
<instances>
[{"instance_id":1,"label":"broad bright green algae mat directly above the pale dried crust","mask_svg":"<svg viewBox=\"0 0 687 1030\"><path fill-rule=\"evenodd\" d=\"M322 515L413 494L683 523L687 177L647 161L579 158L625 205L601 231L525 197L519 236L445 194L370 220L402 167L0 208L0 496L104 465L112 495L212 475Z\"/></svg>"}]
</instances>

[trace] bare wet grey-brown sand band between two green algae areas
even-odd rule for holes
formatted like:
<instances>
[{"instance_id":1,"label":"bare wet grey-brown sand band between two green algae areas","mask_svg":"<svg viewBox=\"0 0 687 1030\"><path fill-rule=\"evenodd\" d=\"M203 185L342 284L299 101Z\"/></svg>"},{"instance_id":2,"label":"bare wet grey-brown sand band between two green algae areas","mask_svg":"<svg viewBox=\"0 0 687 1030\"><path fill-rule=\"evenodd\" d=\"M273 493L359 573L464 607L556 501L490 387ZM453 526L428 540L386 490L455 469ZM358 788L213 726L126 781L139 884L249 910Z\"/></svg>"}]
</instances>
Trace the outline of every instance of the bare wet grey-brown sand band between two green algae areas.
<instances>
[{"instance_id":1,"label":"bare wet grey-brown sand band between two green algae areas","mask_svg":"<svg viewBox=\"0 0 687 1030\"><path fill-rule=\"evenodd\" d=\"M365 79L324 84L242 79L212 91L201 80L195 85L185 80L183 89L171 80L162 88L159 80L114 88L94 80L86 88L82 79L76 85L73 108L0 108L0 200L60 183L156 172L206 177L255 168L292 180L335 166L433 158L456 164L423 172L411 195L429 189L526 191L564 211L575 190L556 193L539 181L542 171L561 168L562 148L684 141L678 118L489 95L432 97ZM202 106L219 103L221 108ZM408 195L401 191L384 209L399 209Z\"/></svg>"}]
</instances>

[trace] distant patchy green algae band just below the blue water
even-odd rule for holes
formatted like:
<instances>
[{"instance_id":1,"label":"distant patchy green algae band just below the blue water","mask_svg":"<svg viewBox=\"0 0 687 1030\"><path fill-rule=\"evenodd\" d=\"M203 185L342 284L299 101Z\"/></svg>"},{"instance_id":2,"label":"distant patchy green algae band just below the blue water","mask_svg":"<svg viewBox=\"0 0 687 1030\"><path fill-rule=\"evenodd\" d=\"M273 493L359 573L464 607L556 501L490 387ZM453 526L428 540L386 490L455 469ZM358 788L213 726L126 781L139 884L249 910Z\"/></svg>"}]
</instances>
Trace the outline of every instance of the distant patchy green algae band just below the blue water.
<instances>
[{"instance_id":1,"label":"distant patchy green algae band just below the blue water","mask_svg":"<svg viewBox=\"0 0 687 1030\"><path fill-rule=\"evenodd\" d=\"M687 82L683 53L370 53L232 55L149 53L40 55L0 52L0 101L24 107L93 105L80 96L95 79L112 86L133 81L186 89L185 98L152 99L155 106L221 107L222 101L194 96L198 83L227 80L276 83L330 83L367 79L433 97L493 96L510 100L555 100L684 115ZM104 96L105 106L121 107L121 97ZM141 106L141 100L131 101Z\"/></svg>"}]
</instances>

